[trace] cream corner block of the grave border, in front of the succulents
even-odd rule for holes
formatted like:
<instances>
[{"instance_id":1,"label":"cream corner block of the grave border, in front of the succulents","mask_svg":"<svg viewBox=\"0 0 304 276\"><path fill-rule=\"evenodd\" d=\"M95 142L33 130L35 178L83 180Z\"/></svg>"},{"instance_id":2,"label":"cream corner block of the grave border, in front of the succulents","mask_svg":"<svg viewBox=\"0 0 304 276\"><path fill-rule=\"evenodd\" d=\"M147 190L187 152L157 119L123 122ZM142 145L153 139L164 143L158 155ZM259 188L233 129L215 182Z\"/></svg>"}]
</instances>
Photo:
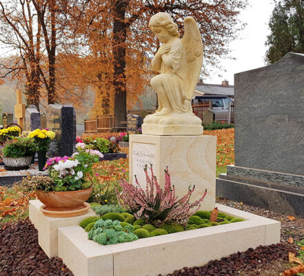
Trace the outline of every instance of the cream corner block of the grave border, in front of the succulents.
<instances>
[{"instance_id":1,"label":"cream corner block of the grave border, in front of the succulents","mask_svg":"<svg viewBox=\"0 0 304 276\"><path fill-rule=\"evenodd\" d=\"M113 276L112 252L88 240L80 226L58 229L58 256L74 276Z\"/></svg>"}]
</instances>

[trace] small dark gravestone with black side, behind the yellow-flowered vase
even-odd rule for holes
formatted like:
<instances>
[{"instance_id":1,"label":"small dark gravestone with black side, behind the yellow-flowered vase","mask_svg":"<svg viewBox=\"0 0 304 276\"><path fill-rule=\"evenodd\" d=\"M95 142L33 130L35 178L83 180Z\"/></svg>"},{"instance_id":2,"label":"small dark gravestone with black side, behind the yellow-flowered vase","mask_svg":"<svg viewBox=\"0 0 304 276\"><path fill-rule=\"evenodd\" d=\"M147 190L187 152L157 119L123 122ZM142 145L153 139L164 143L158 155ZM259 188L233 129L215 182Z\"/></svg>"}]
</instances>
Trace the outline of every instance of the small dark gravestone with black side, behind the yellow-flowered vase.
<instances>
[{"instance_id":1,"label":"small dark gravestone with black side, behind the yellow-flowered vase","mask_svg":"<svg viewBox=\"0 0 304 276\"><path fill-rule=\"evenodd\" d=\"M50 104L46 110L46 118L46 128L56 134L55 139L51 141L48 156L71 156L76 142L74 108L72 106Z\"/></svg>"}]
</instances>

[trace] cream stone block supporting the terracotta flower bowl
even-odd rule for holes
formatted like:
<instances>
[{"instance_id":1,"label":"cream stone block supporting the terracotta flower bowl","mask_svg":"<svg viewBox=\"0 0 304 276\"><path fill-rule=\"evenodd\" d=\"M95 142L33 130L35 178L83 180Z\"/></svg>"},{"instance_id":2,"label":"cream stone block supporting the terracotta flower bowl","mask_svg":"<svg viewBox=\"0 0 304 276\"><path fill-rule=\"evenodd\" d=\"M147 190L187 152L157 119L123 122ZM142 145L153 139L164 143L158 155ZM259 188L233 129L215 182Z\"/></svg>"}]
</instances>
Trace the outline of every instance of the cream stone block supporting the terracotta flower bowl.
<instances>
[{"instance_id":1,"label":"cream stone block supporting the terracotta flower bowl","mask_svg":"<svg viewBox=\"0 0 304 276\"><path fill-rule=\"evenodd\" d=\"M38 230L38 243L48 257L58 256L58 234L57 229L64 226L75 226L86 217L92 217L95 212L88 210L85 215L78 217L47 217L39 210L43 204L40 200L30 200L30 221Z\"/></svg>"}]
</instances>

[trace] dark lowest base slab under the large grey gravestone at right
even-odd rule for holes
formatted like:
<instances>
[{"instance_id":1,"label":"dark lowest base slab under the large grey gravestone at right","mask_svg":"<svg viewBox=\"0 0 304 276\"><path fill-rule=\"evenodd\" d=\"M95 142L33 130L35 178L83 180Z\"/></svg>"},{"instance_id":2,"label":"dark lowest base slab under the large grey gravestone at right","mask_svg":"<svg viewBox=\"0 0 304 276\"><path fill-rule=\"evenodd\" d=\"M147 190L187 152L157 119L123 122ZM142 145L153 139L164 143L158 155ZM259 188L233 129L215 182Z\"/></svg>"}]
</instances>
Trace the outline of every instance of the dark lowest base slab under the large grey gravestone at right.
<instances>
[{"instance_id":1,"label":"dark lowest base slab under the large grey gravestone at right","mask_svg":"<svg viewBox=\"0 0 304 276\"><path fill-rule=\"evenodd\" d=\"M243 201L251 206L259 206L286 215L304 217L303 193L247 184L225 179L225 175L223 178L219 175L219 178L216 179L216 196Z\"/></svg>"}]
</instances>

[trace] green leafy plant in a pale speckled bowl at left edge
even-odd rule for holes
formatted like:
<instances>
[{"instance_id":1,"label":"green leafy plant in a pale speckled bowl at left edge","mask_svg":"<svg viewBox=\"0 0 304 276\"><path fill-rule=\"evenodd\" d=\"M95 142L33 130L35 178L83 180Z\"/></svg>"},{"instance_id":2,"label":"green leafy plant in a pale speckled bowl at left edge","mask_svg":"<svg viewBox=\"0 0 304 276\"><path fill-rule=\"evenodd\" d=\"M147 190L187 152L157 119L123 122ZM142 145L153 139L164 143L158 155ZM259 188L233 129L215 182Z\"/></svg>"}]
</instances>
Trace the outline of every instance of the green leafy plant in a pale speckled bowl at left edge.
<instances>
[{"instance_id":1,"label":"green leafy plant in a pale speckled bowl at left edge","mask_svg":"<svg viewBox=\"0 0 304 276\"><path fill-rule=\"evenodd\" d=\"M1 148L1 155L6 169L21 170L30 167L34 141L28 137L12 137Z\"/></svg>"}]
</instances>

